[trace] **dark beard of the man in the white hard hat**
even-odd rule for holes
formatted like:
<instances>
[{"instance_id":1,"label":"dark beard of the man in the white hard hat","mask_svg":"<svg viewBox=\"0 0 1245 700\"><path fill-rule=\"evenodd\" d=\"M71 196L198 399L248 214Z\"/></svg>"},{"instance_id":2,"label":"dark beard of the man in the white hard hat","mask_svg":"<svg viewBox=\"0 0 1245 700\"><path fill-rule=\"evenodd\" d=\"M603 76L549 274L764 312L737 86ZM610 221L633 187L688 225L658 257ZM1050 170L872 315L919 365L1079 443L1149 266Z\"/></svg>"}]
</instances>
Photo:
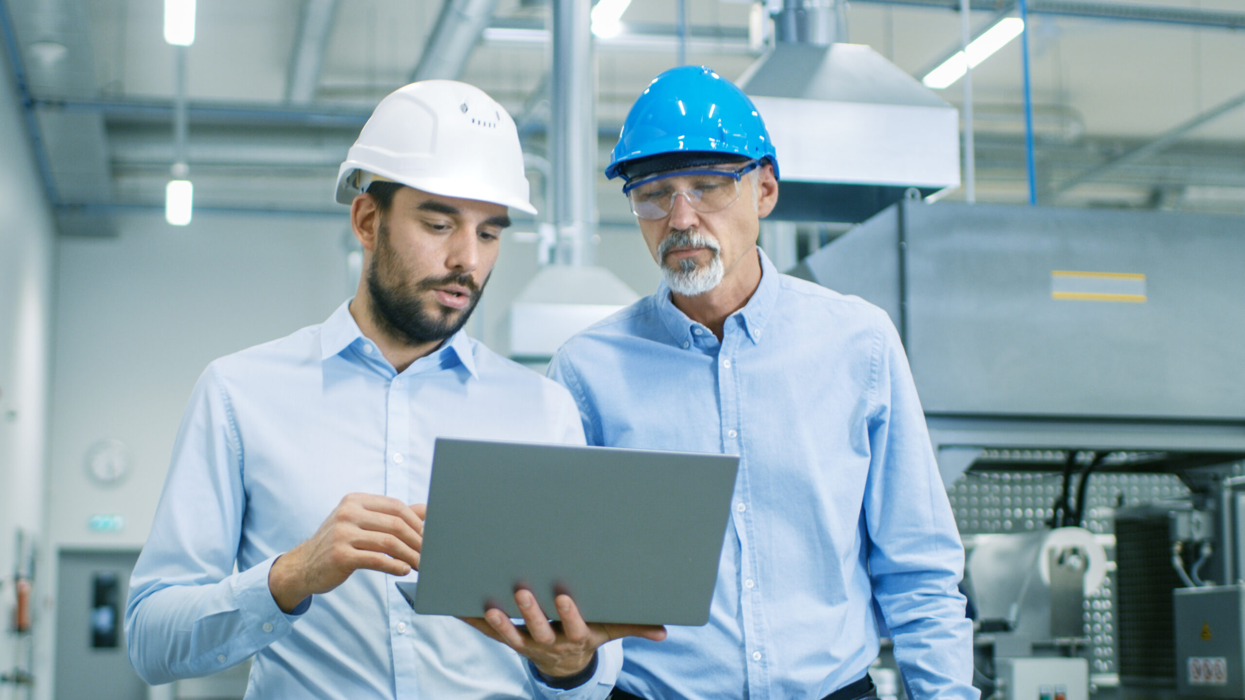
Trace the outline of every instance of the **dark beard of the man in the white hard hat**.
<instances>
[{"instance_id":1,"label":"dark beard of the man in the white hard hat","mask_svg":"<svg viewBox=\"0 0 1245 700\"><path fill-rule=\"evenodd\" d=\"M386 284L385 280L397 278L398 281ZM372 298L372 320L387 335L410 346L441 343L458 333L471 313L479 303L479 295L488 284L477 286L467 273L448 274L442 278L425 278L417 283L408 281L410 274L402 267L388 242L388 227L381 222L376 233L376 252L372 264L367 267L367 291ZM471 290L471 303L461 311L436 304L437 311L430 313L422 293L457 284ZM456 315L457 314L457 315Z\"/></svg>"}]
</instances>

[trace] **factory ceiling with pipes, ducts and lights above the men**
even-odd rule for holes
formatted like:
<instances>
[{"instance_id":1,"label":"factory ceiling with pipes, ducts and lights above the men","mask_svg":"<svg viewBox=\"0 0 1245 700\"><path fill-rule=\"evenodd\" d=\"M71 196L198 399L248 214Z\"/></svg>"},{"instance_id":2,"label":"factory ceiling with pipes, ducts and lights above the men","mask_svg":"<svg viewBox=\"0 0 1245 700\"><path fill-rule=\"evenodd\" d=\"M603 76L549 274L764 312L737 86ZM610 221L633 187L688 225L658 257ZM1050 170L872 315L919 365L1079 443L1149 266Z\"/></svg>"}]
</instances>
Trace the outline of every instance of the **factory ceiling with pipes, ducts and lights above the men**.
<instances>
[{"instance_id":1,"label":"factory ceiling with pipes, ducts and lights above the men","mask_svg":"<svg viewBox=\"0 0 1245 700\"><path fill-rule=\"evenodd\" d=\"M10 72L25 78L62 233L106 235L110 213L162 206L174 157L176 75L162 1L0 1L6 55L19 64ZM412 76L446 71L515 115L539 172L547 4L447 1L463 21L438 25L442 0L200 1L187 50L197 208L339 212L336 166L371 107ZM598 40L603 159L631 100L676 65L679 5L632 0L622 32ZM959 46L957 5L857 0L845 12L848 40L919 78ZM686 0L686 7L688 62L736 78L764 50L756 22L749 29L751 2ZM972 7L980 29L1011 5L972 0ZM1030 0L1030 9L1042 202L1245 213L1239 0ZM981 202L1027 197L1021 75L1020 41L972 72ZM961 106L962 82L941 97ZM627 220L615 187L599 179L603 222ZM534 182L545 209L542 178Z\"/></svg>"}]
</instances>

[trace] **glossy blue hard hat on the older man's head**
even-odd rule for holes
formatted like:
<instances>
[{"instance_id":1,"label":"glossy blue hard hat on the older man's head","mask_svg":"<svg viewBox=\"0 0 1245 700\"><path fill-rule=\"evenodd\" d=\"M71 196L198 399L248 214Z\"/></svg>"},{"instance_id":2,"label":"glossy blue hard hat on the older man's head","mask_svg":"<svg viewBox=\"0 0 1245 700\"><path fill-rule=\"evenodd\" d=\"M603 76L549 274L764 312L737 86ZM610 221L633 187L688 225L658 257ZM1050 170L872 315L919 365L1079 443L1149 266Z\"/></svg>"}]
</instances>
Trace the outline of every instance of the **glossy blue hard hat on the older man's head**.
<instances>
[{"instance_id":1,"label":"glossy blue hard hat on the older man's head","mask_svg":"<svg viewBox=\"0 0 1245 700\"><path fill-rule=\"evenodd\" d=\"M605 177L631 179L636 173L627 172L629 163L662 154L686 154L686 166L713 158L768 161L778 177L778 157L752 100L705 66L652 78L622 122Z\"/></svg>"}]
</instances>

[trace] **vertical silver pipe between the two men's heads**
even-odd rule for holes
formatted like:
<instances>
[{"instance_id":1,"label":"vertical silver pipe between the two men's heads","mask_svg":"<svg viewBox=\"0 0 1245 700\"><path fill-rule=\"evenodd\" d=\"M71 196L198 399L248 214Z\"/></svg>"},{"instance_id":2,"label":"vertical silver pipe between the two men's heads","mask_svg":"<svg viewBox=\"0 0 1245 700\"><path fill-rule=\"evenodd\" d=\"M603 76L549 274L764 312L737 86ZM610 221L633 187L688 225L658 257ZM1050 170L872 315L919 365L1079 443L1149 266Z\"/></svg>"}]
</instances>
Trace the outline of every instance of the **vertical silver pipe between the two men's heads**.
<instances>
[{"instance_id":1,"label":"vertical silver pipe between the two men's heads","mask_svg":"<svg viewBox=\"0 0 1245 700\"><path fill-rule=\"evenodd\" d=\"M553 0L554 263L591 264L596 208L596 70L591 0Z\"/></svg>"}]
</instances>

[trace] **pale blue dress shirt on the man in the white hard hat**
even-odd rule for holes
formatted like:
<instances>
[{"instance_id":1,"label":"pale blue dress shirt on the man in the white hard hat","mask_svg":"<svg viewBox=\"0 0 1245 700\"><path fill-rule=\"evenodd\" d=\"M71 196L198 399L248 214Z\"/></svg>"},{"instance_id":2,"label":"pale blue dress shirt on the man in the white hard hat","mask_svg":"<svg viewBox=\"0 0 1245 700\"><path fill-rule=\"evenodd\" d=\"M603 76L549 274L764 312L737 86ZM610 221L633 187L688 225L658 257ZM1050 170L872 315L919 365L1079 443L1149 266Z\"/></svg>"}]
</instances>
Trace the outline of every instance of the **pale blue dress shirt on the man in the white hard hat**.
<instances>
[{"instance_id":1,"label":"pale blue dress shirt on the man in the white hard hat","mask_svg":"<svg viewBox=\"0 0 1245 700\"><path fill-rule=\"evenodd\" d=\"M616 644L586 684L553 690L466 623L415 614L383 573L355 572L301 614L276 607L273 560L344 496L426 501L438 436L583 443L575 404L557 384L464 333L398 374L346 304L321 325L212 362L131 579L126 634L138 674L168 683L254 655L247 698L609 693Z\"/></svg>"}]
</instances>

